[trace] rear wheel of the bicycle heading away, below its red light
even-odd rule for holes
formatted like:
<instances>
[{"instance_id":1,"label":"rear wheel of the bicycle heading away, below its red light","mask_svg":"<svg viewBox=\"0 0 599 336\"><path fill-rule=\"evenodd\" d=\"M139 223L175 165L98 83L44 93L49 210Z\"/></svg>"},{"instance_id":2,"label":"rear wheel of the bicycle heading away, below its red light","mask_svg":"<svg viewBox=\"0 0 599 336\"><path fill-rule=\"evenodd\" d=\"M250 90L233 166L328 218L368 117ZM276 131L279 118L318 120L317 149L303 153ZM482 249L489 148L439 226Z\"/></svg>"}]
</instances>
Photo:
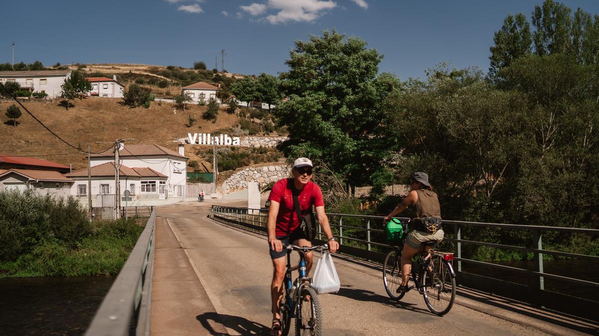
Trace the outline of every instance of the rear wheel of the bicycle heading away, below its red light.
<instances>
[{"instance_id":1,"label":"rear wheel of the bicycle heading away, below its red light","mask_svg":"<svg viewBox=\"0 0 599 336\"><path fill-rule=\"evenodd\" d=\"M422 272L424 302L432 313L447 314L455 300L455 277L440 255L432 255L429 267Z\"/></svg>"}]
</instances>

